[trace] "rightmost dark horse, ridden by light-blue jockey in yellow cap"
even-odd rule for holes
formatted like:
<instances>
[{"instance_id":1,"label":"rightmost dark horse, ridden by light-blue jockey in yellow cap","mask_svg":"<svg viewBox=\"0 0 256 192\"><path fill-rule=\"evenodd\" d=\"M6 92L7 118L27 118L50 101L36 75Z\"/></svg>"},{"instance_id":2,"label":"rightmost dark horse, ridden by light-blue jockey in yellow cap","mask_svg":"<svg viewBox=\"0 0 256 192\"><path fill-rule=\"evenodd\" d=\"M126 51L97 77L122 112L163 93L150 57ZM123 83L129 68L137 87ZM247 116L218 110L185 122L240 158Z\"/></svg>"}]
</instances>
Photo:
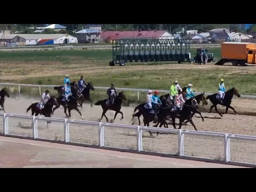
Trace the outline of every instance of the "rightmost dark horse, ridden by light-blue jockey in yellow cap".
<instances>
[{"instance_id":1,"label":"rightmost dark horse, ridden by light-blue jockey in yellow cap","mask_svg":"<svg viewBox=\"0 0 256 192\"><path fill-rule=\"evenodd\" d=\"M231 88L230 90L228 90L225 95L224 95L224 98L223 98L223 102L221 103L220 100L218 100L216 97L217 97L218 93L215 93L215 94L211 94L211 95L208 95L206 97L206 99L210 99L210 101L212 102L212 106L210 108L209 111L207 111L207 113L211 113L211 110L213 109L213 107L215 108L215 111L219 113L219 115L221 117L223 117L222 114L227 114L228 113L228 108L232 109L235 114L236 113L236 110L230 106L231 104L231 100L233 98L234 95L236 95L238 98L241 97L241 95L238 93L237 89L235 87ZM217 109L217 105L222 105L222 106L225 106L226 107L226 113L220 113Z\"/></svg>"}]
</instances>

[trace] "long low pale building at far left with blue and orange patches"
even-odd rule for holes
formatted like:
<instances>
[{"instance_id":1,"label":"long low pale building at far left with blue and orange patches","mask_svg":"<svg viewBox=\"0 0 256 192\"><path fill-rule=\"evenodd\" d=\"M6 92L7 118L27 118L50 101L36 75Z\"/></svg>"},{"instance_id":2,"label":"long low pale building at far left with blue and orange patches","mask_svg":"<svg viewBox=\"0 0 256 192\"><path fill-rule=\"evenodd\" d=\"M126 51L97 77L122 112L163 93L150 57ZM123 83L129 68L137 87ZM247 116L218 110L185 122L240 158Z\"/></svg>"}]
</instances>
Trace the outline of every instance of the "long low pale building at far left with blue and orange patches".
<instances>
[{"instance_id":1,"label":"long low pale building at far left with blue and orange patches","mask_svg":"<svg viewBox=\"0 0 256 192\"><path fill-rule=\"evenodd\" d=\"M10 34L0 38L0 41L13 45L49 45L77 43L77 38L69 34Z\"/></svg>"}]
</instances>

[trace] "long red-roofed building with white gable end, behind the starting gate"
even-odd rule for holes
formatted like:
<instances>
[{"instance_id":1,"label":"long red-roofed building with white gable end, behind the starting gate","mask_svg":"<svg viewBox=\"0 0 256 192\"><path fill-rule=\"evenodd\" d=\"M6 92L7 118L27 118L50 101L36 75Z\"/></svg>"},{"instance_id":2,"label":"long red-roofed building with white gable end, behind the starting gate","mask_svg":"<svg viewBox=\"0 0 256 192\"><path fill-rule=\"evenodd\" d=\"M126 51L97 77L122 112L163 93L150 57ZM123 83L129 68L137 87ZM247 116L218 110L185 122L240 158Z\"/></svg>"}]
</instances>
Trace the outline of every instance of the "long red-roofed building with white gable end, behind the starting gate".
<instances>
[{"instance_id":1,"label":"long red-roofed building with white gable end, behind the starting gate","mask_svg":"<svg viewBox=\"0 0 256 192\"><path fill-rule=\"evenodd\" d=\"M148 39L174 39L174 36L164 30L150 31L104 31L101 34L101 39L104 42L113 42L122 38L148 38Z\"/></svg>"}]
</instances>

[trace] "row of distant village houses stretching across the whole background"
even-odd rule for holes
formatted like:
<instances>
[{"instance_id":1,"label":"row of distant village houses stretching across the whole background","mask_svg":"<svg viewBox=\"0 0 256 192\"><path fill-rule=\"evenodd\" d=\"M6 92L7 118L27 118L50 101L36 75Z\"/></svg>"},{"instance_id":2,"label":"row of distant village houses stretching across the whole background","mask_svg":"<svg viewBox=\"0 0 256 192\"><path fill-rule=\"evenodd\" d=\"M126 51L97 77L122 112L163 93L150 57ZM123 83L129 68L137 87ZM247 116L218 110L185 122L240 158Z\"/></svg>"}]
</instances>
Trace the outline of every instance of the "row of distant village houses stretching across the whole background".
<instances>
[{"instance_id":1,"label":"row of distant village houses stretching across the whole background","mask_svg":"<svg viewBox=\"0 0 256 192\"><path fill-rule=\"evenodd\" d=\"M75 35L68 33L42 34L45 29L65 31L66 27L52 24L47 27L31 27L34 34L19 34L19 31L0 30L0 46L25 46L25 45L54 45L54 44L86 44L86 43L112 43L123 38L148 38L148 39L189 39L190 43L221 43L221 42L253 42L255 34L237 33L225 28L216 28L204 33L198 30L185 30L171 34L166 30L148 31L102 31L102 25L94 24L84 26Z\"/></svg>"}]
</instances>

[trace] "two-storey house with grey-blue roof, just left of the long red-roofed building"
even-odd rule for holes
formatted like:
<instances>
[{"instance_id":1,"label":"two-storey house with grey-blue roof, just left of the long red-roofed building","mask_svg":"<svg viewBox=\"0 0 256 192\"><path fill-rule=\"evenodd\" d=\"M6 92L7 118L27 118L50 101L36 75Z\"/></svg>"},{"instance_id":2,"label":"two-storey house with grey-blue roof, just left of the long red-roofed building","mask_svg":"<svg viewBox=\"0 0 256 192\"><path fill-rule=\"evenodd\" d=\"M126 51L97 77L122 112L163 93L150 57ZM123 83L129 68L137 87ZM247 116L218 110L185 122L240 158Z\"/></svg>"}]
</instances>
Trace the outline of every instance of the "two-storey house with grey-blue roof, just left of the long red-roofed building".
<instances>
[{"instance_id":1,"label":"two-storey house with grey-blue roof, just left of the long red-roofed building","mask_svg":"<svg viewBox=\"0 0 256 192\"><path fill-rule=\"evenodd\" d=\"M77 31L76 34L78 43L100 42L101 31L97 29L83 29Z\"/></svg>"}]
</instances>

